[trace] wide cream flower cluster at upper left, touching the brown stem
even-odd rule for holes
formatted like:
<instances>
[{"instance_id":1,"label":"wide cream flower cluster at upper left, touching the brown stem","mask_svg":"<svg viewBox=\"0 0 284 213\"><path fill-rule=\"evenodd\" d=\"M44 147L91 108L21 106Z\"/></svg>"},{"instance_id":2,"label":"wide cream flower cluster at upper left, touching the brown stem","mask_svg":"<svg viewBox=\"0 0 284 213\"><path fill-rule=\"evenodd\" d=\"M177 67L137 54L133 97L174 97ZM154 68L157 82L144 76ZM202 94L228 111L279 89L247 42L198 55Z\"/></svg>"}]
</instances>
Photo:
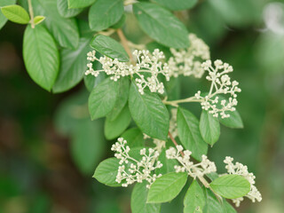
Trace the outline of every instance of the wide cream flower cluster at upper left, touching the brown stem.
<instances>
[{"instance_id":1,"label":"wide cream flower cluster at upper left, touching the brown stem","mask_svg":"<svg viewBox=\"0 0 284 213\"><path fill-rule=\"evenodd\" d=\"M96 58L96 51L90 51L87 54L89 63L88 70L85 75L98 76L100 72L105 72L106 75L111 75L110 79L116 82L119 78L124 76L135 75L138 91L144 94L145 88L149 88L151 92L164 92L164 85L158 79L158 75L164 75L167 81L170 81L169 66L167 63L162 63L165 58L162 51L155 49L151 54L149 51L133 51L133 56L137 58L135 65L130 62L120 62L118 59L110 59L106 56ZM101 70L94 70L92 67L93 61L99 61L102 65Z\"/></svg>"}]
</instances>

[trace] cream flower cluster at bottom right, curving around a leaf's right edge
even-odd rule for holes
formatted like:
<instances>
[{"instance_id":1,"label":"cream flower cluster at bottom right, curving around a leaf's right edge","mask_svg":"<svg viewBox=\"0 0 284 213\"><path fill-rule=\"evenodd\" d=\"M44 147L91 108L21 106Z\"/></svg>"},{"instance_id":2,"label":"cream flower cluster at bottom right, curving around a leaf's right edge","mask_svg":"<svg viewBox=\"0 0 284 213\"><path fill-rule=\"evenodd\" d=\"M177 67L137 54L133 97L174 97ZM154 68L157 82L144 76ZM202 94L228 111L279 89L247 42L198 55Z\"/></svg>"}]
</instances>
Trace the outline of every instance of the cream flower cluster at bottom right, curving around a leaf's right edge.
<instances>
[{"instance_id":1,"label":"cream flower cluster at bottom right, curving around a leaf's right edge","mask_svg":"<svg viewBox=\"0 0 284 213\"><path fill-rule=\"evenodd\" d=\"M232 157L225 157L224 162L227 164L225 166L225 169L227 170L228 174L241 175L242 177L246 177L246 179L248 180L248 182L250 184L250 191L246 195L246 197L248 197L248 199L250 199L253 202L261 201L262 200L261 193L259 193L259 191L257 190L256 185L255 185L255 183L256 183L255 178L256 177L254 176L253 173L248 172L248 167L244 166L240 162L236 162L235 164L233 164L233 158ZM237 199L232 199L232 201L233 201L233 203L235 203L236 207L239 207L241 201L243 201L243 197L237 198Z\"/></svg>"}]
</instances>

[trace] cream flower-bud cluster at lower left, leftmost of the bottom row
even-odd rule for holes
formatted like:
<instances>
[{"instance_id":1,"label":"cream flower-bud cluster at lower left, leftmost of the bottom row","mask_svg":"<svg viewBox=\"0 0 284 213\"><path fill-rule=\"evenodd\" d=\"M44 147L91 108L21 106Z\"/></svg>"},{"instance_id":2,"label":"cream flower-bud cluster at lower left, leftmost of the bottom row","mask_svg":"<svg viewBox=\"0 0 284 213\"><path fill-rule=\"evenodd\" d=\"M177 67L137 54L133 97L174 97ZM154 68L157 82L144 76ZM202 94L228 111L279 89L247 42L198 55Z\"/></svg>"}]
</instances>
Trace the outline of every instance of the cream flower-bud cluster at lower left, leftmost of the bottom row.
<instances>
[{"instance_id":1,"label":"cream flower-bud cluster at lower left, leftmost of the bottom row","mask_svg":"<svg viewBox=\"0 0 284 213\"><path fill-rule=\"evenodd\" d=\"M122 183L123 187L127 187L135 182L142 183L146 180L149 184L148 188L154 183L157 177L162 175L153 174L154 170L162 168L162 163L156 161L159 157L159 152L153 148L143 148L140 150L142 159L140 161L130 157L130 146L127 146L127 141L123 138L118 138L117 142L112 146L111 150L116 152L114 156L120 160L118 173L115 181ZM125 180L125 181L124 181Z\"/></svg>"}]
</instances>

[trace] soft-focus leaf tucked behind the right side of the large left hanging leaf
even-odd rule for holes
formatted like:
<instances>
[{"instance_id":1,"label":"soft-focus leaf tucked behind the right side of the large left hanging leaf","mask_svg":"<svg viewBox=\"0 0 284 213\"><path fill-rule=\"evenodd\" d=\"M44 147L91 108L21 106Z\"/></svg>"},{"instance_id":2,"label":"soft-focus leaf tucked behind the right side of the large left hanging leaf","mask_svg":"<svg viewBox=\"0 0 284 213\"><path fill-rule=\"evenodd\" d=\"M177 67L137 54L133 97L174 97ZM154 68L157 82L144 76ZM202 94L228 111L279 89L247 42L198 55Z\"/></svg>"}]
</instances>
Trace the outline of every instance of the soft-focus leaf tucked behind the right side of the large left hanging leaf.
<instances>
[{"instance_id":1,"label":"soft-focus leaf tucked behind the right side of the large left hanging leaf","mask_svg":"<svg viewBox=\"0 0 284 213\"><path fill-rule=\"evenodd\" d=\"M88 51L91 51L90 41L91 36L85 36L80 38L76 50L63 49L60 51L59 76L52 88L53 92L68 91L83 79L88 63L86 55Z\"/></svg>"}]
</instances>

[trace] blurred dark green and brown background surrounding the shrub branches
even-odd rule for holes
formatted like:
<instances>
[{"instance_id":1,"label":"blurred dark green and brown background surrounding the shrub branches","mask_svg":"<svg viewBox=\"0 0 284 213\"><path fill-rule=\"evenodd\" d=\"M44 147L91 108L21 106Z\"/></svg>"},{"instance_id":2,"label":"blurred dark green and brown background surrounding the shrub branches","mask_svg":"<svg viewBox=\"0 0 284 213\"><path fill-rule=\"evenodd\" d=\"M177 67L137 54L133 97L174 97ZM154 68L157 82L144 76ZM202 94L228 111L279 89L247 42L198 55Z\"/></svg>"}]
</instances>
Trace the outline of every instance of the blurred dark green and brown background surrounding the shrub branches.
<instances>
[{"instance_id":1,"label":"blurred dark green and brown background surrounding the shrub branches","mask_svg":"<svg viewBox=\"0 0 284 213\"><path fill-rule=\"evenodd\" d=\"M256 175L263 201L245 200L238 212L283 212L284 2L204 0L176 15L209 44L212 59L233 65L240 82L244 129L222 128L209 150L217 168L230 155ZM130 189L91 177L113 155L113 141L104 138L103 120L90 122L84 83L61 94L37 86L22 60L24 28L8 22L0 31L0 212L130 212ZM123 30L134 43L148 41L131 13ZM180 81L183 96L206 83ZM180 198L163 204L162 213L182 212Z\"/></svg>"}]
</instances>

